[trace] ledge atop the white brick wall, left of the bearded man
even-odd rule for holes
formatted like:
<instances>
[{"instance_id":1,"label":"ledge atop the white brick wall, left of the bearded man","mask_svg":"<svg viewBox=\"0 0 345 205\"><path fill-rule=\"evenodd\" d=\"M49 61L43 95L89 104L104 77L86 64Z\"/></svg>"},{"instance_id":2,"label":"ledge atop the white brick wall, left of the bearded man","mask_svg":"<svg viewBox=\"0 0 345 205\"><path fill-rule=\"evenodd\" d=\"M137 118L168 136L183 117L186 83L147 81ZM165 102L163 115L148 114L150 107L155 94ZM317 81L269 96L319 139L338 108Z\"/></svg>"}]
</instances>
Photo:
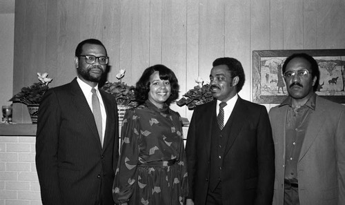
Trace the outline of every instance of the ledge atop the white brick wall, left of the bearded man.
<instances>
[{"instance_id":1,"label":"ledge atop the white brick wall, left of the bearded man","mask_svg":"<svg viewBox=\"0 0 345 205\"><path fill-rule=\"evenodd\" d=\"M0 136L36 136L37 124L0 124Z\"/></svg>"}]
</instances>

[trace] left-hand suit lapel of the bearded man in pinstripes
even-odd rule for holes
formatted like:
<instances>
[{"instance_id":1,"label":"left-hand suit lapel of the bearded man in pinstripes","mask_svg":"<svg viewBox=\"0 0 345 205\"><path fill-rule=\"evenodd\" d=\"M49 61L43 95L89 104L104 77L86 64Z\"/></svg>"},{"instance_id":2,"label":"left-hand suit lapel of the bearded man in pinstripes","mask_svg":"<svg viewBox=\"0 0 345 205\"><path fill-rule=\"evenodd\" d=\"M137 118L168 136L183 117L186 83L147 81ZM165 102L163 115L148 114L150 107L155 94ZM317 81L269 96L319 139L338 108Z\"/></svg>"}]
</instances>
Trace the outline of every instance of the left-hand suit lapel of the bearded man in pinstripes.
<instances>
[{"instance_id":1,"label":"left-hand suit lapel of the bearded man in pinstripes","mask_svg":"<svg viewBox=\"0 0 345 205\"><path fill-rule=\"evenodd\" d=\"M70 87L71 87L70 92L73 95L72 102L75 104L75 108L79 110L79 113L83 115L83 119L80 119L80 120L88 124L88 127L90 127L90 130L92 131L92 134L95 137L97 137L97 139L99 140L95 117L93 116L90 106L88 105L88 101L86 101L86 97L83 95L83 91L81 90L77 82L77 78L75 78L70 83ZM100 140L99 140L99 148L101 148Z\"/></svg>"}]
</instances>

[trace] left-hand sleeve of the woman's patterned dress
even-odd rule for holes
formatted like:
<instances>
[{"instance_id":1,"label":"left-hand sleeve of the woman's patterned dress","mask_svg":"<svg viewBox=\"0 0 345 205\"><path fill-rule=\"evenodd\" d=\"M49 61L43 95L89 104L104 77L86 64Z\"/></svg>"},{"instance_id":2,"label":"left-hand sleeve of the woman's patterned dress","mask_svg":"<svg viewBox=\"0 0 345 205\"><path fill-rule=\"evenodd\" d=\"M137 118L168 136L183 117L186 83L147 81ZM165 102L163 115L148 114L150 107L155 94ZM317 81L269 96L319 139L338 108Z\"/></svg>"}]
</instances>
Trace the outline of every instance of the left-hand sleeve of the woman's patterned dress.
<instances>
[{"instance_id":1,"label":"left-hand sleeve of the woman's patterned dress","mask_svg":"<svg viewBox=\"0 0 345 205\"><path fill-rule=\"evenodd\" d=\"M115 204L128 202L137 183L139 162L139 117L134 109L126 111L121 127L121 151L112 186Z\"/></svg>"}]
</instances>

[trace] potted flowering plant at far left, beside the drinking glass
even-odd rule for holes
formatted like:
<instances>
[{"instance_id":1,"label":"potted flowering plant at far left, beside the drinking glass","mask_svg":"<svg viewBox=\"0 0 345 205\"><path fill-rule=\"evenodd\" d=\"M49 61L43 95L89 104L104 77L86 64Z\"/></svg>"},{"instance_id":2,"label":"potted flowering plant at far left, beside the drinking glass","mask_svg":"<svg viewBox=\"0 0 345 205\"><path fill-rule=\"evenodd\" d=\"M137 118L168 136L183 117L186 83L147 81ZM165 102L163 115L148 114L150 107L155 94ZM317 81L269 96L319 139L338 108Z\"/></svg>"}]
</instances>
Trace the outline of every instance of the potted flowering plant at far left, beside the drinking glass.
<instances>
[{"instance_id":1,"label":"potted flowering plant at far left, beside the drinking glass","mask_svg":"<svg viewBox=\"0 0 345 205\"><path fill-rule=\"evenodd\" d=\"M48 78L48 73L41 74L37 72L39 79L38 83L32 84L32 86L21 88L21 91L14 95L10 101L13 103L21 103L26 105L40 104L44 93L48 90L48 84L52 81Z\"/></svg>"}]
</instances>

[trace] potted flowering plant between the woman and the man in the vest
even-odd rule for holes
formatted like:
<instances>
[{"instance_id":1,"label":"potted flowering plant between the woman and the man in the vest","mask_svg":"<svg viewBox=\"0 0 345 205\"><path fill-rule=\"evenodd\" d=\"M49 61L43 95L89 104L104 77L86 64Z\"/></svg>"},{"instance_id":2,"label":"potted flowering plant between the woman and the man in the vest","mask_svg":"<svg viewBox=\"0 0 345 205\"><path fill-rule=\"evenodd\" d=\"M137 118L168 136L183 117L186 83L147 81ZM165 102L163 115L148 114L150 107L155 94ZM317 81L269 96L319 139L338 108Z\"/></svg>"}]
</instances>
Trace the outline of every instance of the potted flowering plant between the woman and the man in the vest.
<instances>
[{"instance_id":1,"label":"potted flowering plant between the woman and the man in the vest","mask_svg":"<svg viewBox=\"0 0 345 205\"><path fill-rule=\"evenodd\" d=\"M193 89L188 90L179 101L178 106L187 106L189 110L193 110L195 106L206 104L213 101L213 95L210 91L210 85L205 84L201 77L198 77L195 82L198 84Z\"/></svg>"}]
</instances>

